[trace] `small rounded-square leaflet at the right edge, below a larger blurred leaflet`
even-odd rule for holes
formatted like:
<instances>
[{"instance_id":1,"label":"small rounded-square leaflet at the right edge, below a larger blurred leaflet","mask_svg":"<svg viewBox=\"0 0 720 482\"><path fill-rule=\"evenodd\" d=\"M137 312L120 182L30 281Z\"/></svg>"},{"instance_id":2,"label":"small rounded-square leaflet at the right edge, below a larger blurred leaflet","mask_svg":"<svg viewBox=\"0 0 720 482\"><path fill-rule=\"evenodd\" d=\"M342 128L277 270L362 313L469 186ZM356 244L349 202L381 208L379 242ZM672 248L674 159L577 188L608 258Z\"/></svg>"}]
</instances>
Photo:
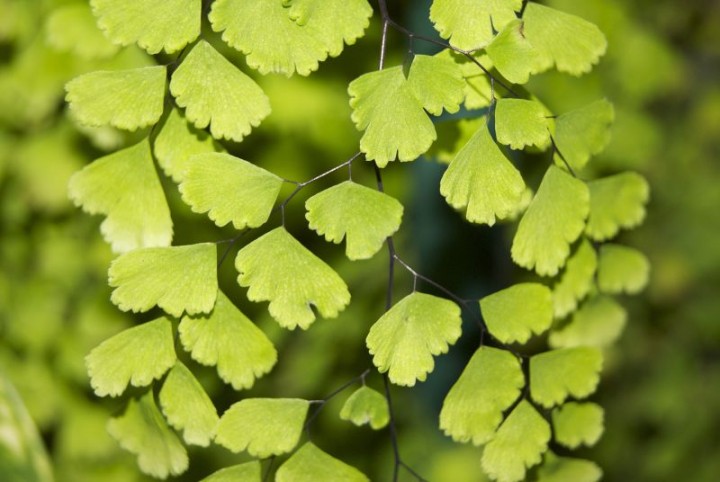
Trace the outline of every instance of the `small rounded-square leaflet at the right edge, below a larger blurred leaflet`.
<instances>
[{"instance_id":1,"label":"small rounded-square leaflet at the right edge, below a larger blurred leaflet","mask_svg":"<svg viewBox=\"0 0 720 482\"><path fill-rule=\"evenodd\" d=\"M609 243L600 247L597 280L603 293L639 293L649 277L650 262L637 249Z\"/></svg>"}]
</instances>

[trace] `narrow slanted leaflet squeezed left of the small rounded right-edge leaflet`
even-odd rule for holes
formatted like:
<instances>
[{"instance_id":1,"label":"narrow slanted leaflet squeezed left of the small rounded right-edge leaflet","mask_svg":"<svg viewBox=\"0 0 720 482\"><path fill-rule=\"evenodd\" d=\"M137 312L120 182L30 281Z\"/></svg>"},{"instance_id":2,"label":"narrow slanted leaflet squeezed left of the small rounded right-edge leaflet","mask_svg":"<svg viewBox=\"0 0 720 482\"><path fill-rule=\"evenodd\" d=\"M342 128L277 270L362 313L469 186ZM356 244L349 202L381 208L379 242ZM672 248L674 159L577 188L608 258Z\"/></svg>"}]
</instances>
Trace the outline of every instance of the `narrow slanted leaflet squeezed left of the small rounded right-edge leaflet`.
<instances>
[{"instance_id":1,"label":"narrow slanted leaflet squeezed left of the small rounded right-edge leaflet","mask_svg":"<svg viewBox=\"0 0 720 482\"><path fill-rule=\"evenodd\" d=\"M590 242L583 238L575 253L568 259L565 271L553 286L553 306L556 318L563 318L575 310L593 287L597 254Z\"/></svg>"}]
</instances>

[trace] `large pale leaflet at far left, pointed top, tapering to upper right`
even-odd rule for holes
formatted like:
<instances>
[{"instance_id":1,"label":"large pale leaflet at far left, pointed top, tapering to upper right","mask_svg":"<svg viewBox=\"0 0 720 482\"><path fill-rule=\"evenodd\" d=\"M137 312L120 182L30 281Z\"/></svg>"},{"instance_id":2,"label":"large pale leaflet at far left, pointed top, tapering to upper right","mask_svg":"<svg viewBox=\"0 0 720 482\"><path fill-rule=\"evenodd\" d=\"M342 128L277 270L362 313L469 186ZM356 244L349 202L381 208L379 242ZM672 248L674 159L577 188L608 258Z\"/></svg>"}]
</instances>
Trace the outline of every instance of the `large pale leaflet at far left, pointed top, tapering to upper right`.
<instances>
[{"instance_id":1,"label":"large pale leaflet at far left, pointed top, tapering to upper right","mask_svg":"<svg viewBox=\"0 0 720 482\"><path fill-rule=\"evenodd\" d=\"M107 216L100 231L115 252L172 241L170 209L147 139L75 173L68 195L83 211Z\"/></svg>"}]
</instances>

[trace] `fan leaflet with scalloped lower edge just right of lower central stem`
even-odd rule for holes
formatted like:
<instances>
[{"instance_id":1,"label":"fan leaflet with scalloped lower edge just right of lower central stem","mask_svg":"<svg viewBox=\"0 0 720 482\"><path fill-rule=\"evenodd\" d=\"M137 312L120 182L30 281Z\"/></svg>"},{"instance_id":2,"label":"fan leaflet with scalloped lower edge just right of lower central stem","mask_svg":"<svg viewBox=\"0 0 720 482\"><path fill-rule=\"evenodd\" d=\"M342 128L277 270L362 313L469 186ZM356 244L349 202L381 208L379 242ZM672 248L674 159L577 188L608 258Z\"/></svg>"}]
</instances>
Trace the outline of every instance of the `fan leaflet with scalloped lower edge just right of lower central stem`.
<instances>
[{"instance_id":1,"label":"fan leaflet with scalloped lower edge just right of lower central stem","mask_svg":"<svg viewBox=\"0 0 720 482\"><path fill-rule=\"evenodd\" d=\"M366 344L380 373L396 385L424 382L435 368L433 356L460 338L460 307L450 300L413 292L370 328Z\"/></svg>"}]
</instances>

